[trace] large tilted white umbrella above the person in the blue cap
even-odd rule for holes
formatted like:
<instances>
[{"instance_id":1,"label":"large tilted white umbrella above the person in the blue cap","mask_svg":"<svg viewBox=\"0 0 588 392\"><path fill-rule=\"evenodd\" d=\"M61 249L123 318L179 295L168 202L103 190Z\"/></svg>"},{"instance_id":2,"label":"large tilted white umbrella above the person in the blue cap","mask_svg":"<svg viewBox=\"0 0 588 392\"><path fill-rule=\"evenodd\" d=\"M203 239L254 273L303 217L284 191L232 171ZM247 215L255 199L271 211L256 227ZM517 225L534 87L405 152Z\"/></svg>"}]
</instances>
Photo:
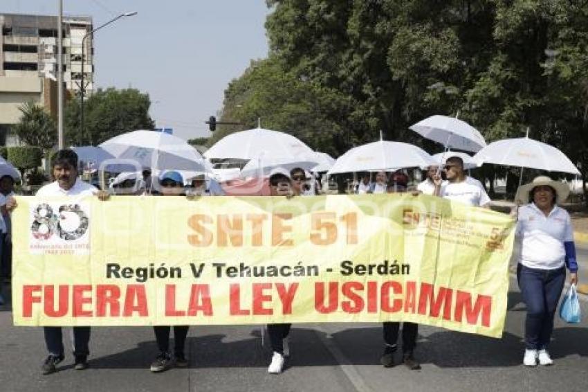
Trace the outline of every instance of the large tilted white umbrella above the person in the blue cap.
<instances>
[{"instance_id":1,"label":"large tilted white umbrella above the person in the blue cap","mask_svg":"<svg viewBox=\"0 0 588 392\"><path fill-rule=\"evenodd\" d=\"M115 136L100 145L116 159L135 161L151 170L210 172L210 163L185 140L165 132L134 131Z\"/></svg>"}]
</instances>

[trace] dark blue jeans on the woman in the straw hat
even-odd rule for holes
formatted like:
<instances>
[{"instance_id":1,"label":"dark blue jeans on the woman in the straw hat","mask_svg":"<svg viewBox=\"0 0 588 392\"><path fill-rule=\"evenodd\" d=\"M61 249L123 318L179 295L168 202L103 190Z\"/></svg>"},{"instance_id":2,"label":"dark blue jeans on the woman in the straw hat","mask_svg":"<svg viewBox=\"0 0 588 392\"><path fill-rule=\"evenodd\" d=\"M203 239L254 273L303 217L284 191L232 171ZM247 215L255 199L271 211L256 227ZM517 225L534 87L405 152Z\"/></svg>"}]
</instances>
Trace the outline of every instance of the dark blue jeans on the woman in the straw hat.
<instances>
[{"instance_id":1,"label":"dark blue jeans on the woman in the straw hat","mask_svg":"<svg viewBox=\"0 0 588 392\"><path fill-rule=\"evenodd\" d=\"M553 317L564 289L566 269L535 269L517 265L517 280L526 305L525 348L547 348Z\"/></svg>"}]
</instances>

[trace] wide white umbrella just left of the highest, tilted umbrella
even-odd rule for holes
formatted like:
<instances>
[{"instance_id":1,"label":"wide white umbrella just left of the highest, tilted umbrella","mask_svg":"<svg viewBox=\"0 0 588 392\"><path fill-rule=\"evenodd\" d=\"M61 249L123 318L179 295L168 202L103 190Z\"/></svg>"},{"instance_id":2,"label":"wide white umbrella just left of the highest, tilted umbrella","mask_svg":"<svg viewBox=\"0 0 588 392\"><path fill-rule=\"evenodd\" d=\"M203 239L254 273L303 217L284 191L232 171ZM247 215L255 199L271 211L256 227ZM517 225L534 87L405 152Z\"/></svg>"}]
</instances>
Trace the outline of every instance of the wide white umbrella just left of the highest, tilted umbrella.
<instances>
[{"instance_id":1,"label":"wide white umbrella just left of the highest, tilted umbrella","mask_svg":"<svg viewBox=\"0 0 588 392\"><path fill-rule=\"evenodd\" d=\"M416 145L398 141L376 141L345 152L328 174L393 170L438 165L427 152Z\"/></svg>"}]
</instances>

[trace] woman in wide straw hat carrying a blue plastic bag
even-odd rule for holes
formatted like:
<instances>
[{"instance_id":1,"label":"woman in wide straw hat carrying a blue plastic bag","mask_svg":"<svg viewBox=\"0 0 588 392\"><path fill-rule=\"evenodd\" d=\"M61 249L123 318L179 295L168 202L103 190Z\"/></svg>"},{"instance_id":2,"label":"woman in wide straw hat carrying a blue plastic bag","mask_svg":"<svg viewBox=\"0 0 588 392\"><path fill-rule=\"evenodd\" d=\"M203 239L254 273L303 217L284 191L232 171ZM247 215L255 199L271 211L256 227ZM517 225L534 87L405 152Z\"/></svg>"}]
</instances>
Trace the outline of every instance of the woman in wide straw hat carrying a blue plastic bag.
<instances>
[{"instance_id":1,"label":"woman in wide straw hat carrying a blue plastic bag","mask_svg":"<svg viewBox=\"0 0 588 392\"><path fill-rule=\"evenodd\" d=\"M547 346L562 294L566 267L570 283L578 281L576 247L567 211L558 207L569 195L567 185L540 176L517 190L517 240L521 244L517 280L526 304L523 364L551 365Z\"/></svg>"}]
</instances>

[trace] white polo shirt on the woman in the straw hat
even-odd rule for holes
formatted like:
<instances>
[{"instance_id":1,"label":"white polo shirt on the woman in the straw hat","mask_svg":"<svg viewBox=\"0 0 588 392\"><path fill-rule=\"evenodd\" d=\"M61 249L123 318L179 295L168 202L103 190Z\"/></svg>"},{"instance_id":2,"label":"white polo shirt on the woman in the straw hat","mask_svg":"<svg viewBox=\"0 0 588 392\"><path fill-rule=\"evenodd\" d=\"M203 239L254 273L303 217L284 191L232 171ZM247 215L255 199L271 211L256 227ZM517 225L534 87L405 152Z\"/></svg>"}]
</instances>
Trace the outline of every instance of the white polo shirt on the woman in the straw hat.
<instances>
[{"instance_id":1,"label":"white polo shirt on the woman in the straw hat","mask_svg":"<svg viewBox=\"0 0 588 392\"><path fill-rule=\"evenodd\" d=\"M538 269L563 267L564 242L573 241L571 219L563 208L554 206L545 216L534 203L520 206L516 234L521 242L522 265Z\"/></svg>"}]
</instances>

